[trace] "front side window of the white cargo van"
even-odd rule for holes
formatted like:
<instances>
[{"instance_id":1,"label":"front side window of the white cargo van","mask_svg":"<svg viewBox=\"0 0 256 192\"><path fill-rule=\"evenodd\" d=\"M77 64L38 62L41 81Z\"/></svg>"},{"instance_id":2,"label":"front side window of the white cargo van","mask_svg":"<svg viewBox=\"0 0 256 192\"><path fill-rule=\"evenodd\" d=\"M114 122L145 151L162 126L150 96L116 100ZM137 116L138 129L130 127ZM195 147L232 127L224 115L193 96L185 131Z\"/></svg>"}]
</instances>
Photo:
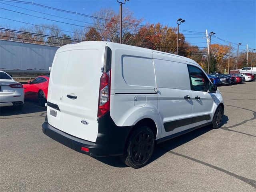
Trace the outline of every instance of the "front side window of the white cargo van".
<instances>
[{"instance_id":1,"label":"front side window of the white cargo van","mask_svg":"<svg viewBox=\"0 0 256 192\"><path fill-rule=\"evenodd\" d=\"M192 65L188 65L188 71L192 84L191 89L195 91L207 92L209 82L208 78L206 78L206 76L204 75L204 72L202 72L202 70Z\"/></svg>"}]
</instances>

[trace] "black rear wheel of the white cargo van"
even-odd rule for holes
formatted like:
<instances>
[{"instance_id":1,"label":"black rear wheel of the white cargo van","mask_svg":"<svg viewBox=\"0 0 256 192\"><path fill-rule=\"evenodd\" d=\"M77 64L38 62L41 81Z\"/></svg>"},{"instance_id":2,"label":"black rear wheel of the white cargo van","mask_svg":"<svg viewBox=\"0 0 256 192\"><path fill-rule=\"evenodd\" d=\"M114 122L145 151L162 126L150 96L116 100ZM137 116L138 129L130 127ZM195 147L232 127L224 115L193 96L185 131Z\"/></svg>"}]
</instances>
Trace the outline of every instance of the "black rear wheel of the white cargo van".
<instances>
[{"instance_id":1,"label":"black rear wheel of the white cargo van","mask_svg":"<svg viewBox=\"0 0 256 192\"><path fill-rule=\"evenodd\" d=\"M132 132L126 143L122 162L132 168L141 168L150 160L154 151L154 134L147 126L140 126Z\"/></svg>"}]
</instances>

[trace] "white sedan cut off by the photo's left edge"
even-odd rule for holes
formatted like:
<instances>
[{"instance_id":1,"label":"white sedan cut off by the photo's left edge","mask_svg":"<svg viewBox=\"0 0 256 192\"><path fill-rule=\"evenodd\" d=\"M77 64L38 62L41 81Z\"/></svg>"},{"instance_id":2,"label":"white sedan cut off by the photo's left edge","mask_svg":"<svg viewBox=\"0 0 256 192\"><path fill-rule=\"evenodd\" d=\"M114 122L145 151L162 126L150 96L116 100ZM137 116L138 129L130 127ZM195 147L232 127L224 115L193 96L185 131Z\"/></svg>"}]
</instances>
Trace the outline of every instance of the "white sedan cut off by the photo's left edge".
<instances>
[{"instance_id":1,"label":"white sedan cut off by the photo's left edge","mask_svg":"<svg viewBox=\"0 0 256 192\"><path fill-rule=\"evenodd\" d=\"M0 107L14 106L22 109L24 104L23 85L6 72L0 71Z\"/></svg>"}]
</instances>

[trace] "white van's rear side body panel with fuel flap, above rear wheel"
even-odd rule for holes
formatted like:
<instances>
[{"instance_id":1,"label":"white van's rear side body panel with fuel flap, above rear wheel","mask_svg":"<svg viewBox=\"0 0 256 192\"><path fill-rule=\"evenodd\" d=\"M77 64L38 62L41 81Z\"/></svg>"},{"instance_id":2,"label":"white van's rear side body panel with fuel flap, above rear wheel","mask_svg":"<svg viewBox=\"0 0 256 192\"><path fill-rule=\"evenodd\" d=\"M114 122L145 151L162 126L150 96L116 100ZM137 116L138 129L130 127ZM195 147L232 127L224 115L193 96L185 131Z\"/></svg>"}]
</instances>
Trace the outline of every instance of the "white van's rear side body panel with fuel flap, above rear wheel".
<instances>
[{"instance_id":1,"label":"white van's rear side body panel with fuel flap, above rear wheel","mask_svg":"<svg viewBox=\"0 0 256 192\"><path fill-rule=\"evenodd\" d=\"M144 118L156 123L161 135L152 53L145 48L108 43L112 50L110 116L117 126L134 126Z\"/></svg>"}]
</instances>

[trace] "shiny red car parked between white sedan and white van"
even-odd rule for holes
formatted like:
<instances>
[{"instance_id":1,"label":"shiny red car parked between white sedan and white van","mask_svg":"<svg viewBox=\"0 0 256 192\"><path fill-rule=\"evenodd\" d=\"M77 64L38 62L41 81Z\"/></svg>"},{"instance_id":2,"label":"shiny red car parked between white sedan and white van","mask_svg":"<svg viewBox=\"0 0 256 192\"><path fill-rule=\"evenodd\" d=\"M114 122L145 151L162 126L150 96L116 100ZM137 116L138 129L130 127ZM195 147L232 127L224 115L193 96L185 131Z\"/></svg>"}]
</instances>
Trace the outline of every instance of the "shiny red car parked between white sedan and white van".
<instances>
[{"instance_id":1,"label":"shiny red car parked between white sedan and white van","mask_svg":"<svg viewBox=\"0 0 256 192\"><path fill-rule=\"evenodd\" d=\"M40 106L47 102L49 76L38 76L28 84L23 84L25 99L38 100Z\"/></svg>"}]
</instances>

